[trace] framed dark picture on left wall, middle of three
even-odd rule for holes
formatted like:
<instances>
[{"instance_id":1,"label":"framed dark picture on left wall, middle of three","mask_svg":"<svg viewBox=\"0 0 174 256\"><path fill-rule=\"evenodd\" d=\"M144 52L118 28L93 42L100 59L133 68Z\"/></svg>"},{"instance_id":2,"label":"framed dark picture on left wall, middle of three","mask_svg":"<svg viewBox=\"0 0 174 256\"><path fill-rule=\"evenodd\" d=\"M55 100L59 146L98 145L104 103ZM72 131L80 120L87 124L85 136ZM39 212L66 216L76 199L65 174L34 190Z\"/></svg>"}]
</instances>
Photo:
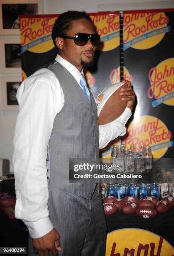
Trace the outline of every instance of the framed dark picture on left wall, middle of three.
<instances>
[{"instance_id":1,"label":"framed dark picture on left wall, middle of three","mask_svg":"<svg viewBox=\"0 0 174 256\"><path fill-rule=\"evenodd\" d=\"M21 73L20 39L0 39L0 73Z\"/></svg>"}]
</instances>

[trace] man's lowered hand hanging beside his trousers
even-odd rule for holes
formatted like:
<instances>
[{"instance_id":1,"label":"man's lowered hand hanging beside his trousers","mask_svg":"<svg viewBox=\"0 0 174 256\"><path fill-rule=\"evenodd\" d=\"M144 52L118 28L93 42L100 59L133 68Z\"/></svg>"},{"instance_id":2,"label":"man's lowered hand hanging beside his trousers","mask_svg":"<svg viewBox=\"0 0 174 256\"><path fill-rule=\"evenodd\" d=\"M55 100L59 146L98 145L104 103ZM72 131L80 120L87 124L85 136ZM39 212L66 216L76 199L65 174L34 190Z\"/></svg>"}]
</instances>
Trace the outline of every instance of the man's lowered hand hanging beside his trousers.
<instances>
[{"instance_id":1,"label":"man's lowered hand hanging beside his trousers","mask_svg":"<svg viewBox=\"0 0 174 256\"><path fill-rule=\"evenodd\" d=\"M58 251L61 251L59 246L59 233L53 228L48 234L40 238L33 239L34 252L38 253L38 256L49 256L49 251L54 256L59 255Z\"/></svg>"}]
</instances>

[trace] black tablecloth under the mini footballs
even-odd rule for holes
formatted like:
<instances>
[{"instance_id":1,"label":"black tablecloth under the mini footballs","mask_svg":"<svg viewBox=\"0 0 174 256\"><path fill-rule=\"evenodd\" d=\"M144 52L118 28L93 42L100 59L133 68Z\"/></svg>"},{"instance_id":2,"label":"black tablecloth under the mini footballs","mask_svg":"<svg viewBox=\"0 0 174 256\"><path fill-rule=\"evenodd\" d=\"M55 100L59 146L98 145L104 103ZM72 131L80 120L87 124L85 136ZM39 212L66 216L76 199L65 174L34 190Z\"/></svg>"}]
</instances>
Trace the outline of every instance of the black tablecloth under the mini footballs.
<instances>
[{"instance_id":1,"label":"black tablecloth under the mini footballs","mask_svg":"<svg viewBox=\"0 0 174 256\"><path fill-rule=\"evenodd\" d=\"M158 213L153 219L143 219L137 214L116 212L106 216L107 233L121 228L141 228L166 239L174 246L174 207L166 213ZM22 221L10 220L0 210L0 247L27 247L28 230Z\"/></svg>"}]
</instances>

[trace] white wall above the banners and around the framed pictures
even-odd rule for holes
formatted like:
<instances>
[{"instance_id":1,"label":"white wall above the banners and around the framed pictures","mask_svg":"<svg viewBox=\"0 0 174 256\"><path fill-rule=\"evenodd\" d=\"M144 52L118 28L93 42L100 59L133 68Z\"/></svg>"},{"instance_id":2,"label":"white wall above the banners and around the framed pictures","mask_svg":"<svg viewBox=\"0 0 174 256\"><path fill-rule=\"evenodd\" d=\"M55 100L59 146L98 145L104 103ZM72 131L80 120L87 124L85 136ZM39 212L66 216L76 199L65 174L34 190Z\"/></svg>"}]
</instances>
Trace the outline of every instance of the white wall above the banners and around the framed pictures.
<instances>
[{"instance_id":1,"label":"white wall above the banners and around the framed pictures","mask_svg":"<svg viewBox=\"0 0 174 256\"><path fill-rule=\"evenodd\" d=\"M137 10L154 8L174 8L174 1L168 0L44 0L44 13L62 13L67 10L85 10L87 12L114 11L114 10ZM28 0L28 3L30 0ZM0 36L8 38L8 36ZM19 36L10 36L19 38ZM18 76L20 74L15 74ZM0 74L0 76L7 76ZM10 172L13 173L13 136L17 111L2 111L0 104L0 158L10 160Z\"/></svg>"}]
</instances>

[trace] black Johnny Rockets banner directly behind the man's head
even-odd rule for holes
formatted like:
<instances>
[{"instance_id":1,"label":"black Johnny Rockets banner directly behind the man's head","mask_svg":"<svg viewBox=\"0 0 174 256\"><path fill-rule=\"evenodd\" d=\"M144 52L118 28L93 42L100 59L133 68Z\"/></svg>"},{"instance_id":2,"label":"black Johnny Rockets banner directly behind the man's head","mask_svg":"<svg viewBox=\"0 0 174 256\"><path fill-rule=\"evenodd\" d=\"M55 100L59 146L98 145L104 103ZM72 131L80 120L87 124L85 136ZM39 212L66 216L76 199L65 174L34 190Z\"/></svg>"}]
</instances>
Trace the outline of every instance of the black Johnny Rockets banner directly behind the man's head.
<instances>
[{"instance_id":1,"label":"black Johnny Rockets banner directly behind the man's head","mask_svg":"<svg viewBox=\"0 0 174 256\"><path fill-rule=\"evenodd\" d=\"M90 13L101 44L95 53L95 65L85 68L87 83L95 97L113 81L119 80L115 73L120 61L119 13ZM54 44L51 31L58 15L25 15L20 17L20 42L22 54L22 77L25 79L44 66L51 56ZM111 79L112 77L112 79Z\"/></svg>"}]
</instances>

